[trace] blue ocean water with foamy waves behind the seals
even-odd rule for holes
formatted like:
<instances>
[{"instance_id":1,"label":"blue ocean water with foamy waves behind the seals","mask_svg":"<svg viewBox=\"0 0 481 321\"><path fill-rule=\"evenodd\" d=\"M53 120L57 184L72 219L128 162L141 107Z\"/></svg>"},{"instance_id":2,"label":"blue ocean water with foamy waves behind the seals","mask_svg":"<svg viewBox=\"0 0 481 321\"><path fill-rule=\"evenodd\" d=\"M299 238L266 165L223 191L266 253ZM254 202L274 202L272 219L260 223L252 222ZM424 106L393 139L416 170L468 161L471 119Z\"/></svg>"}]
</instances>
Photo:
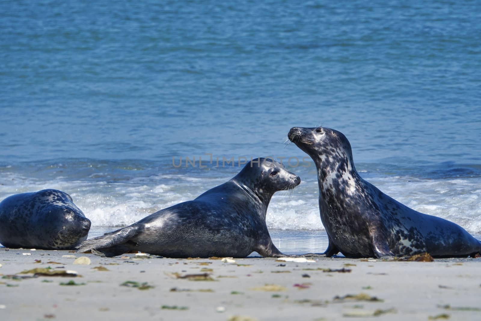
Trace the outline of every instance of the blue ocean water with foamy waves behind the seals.
<instances>
[{"instance_id":1,"label":"blue ocean water with foamy waves behind the seals","mask_svg":"<svg viewBox=\"0 0 481 321\"><path fill-rule=\"evenodd\" d=\"M476 1L1 1L0 199L56 188L90 236L273 157L298 174L267 226L327 247L293 126L350 140L405 205L481 235Z\"/></svg>"}]
</instances>

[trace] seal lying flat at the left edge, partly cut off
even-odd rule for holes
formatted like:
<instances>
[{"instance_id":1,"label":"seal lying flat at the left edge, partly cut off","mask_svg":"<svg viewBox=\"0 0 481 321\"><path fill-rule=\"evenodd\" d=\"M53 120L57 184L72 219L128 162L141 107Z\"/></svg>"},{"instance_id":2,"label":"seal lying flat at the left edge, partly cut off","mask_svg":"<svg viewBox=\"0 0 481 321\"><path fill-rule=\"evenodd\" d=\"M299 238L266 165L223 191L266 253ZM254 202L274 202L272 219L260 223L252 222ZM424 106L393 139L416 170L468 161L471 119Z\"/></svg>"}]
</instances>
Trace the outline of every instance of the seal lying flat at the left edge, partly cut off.
<instances>
[{"instance_id":1,"label":"seal lying flat at the left edge, partly cut off","mask_svg":"<svg viewBox=\"0 0 481 321\"><path fill-rule=\"evenodd\" d=\"M5 247L71 249L87 239L90 220L70 195L55 189L15 194L0 203Z\"/></svg>"}]
</instances>

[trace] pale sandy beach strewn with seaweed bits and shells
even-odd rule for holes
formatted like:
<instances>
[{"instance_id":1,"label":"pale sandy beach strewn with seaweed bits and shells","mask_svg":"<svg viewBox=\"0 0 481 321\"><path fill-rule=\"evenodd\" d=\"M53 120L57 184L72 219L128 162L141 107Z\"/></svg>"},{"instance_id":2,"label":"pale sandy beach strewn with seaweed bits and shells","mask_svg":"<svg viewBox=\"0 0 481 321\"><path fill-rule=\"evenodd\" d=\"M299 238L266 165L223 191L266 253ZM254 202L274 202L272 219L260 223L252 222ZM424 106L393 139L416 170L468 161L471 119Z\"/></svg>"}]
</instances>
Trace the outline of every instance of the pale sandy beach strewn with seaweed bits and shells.
<instances>
[{"instance_id":1,"label":"pale sandy beach strewn with seaweed bits and shells","mask_svg":"<svg viewBox=\"0 0 481 321\"><path fill-rule=\"evenodd\" d=\"M481 259L234 260L1 248L0 320L479 320Z\"/></svg>"}]
</instances>

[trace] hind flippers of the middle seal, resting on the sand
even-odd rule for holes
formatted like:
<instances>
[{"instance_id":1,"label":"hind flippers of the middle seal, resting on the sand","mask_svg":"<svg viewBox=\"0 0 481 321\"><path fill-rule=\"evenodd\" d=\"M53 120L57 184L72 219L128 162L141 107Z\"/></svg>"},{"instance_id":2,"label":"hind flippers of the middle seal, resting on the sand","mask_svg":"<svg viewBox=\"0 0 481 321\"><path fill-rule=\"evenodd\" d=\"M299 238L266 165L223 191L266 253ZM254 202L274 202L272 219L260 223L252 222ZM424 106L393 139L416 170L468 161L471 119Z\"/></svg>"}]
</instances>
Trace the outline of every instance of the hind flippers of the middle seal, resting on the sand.
<instances>
[{"instance_id":1,"label":"hind flippers of the middle seal, resting on the sand","mask_svg":"<svg viewBox=\"0 0 481 321\"><path fill-rule=\"evenodd\" d=\"M139 224L130 225L105 235L91 238L78 246L77 253L91 251L101 257L114 257L136 247L131 239L139 235L142 228Z\"/></svg>"}]
</instances>

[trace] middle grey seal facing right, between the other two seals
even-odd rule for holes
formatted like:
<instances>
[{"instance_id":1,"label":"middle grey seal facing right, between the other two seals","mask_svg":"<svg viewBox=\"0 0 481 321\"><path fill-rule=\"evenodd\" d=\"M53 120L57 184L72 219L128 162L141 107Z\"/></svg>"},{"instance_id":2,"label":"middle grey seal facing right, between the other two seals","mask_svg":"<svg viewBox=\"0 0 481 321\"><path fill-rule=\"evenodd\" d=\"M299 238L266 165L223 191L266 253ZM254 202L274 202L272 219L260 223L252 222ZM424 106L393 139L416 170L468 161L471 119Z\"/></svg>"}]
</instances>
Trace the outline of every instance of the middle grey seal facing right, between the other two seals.
<instances>
[{"instance_id":1,"label":"middle grey seal facing right, between the other two seals","mask_svg":"<svg viewBox=\"0 0 481 321\"><path fill-rule=\"evenodd\" d=\"M272 195L299 185L278 162L256 159L227 183L194 200L82 243L77 252L112 257L130 250L171 258L282 256L266 226Z\"/></svg>"}]
</instances>

